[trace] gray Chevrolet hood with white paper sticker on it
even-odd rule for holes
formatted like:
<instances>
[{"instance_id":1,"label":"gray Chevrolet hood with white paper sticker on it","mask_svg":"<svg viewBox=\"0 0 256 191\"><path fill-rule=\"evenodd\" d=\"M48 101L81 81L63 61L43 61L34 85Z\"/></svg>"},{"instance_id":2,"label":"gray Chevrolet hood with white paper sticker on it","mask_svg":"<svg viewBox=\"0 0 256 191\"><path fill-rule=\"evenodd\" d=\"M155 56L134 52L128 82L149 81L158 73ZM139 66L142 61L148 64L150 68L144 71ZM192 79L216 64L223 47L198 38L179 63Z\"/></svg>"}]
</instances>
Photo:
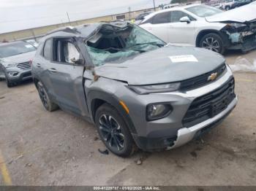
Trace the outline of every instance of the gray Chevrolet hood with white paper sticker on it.
<instances>
[{"instance_id":1,"label":"gray Chevrolet hood with white paper sticker on it","mask_svg":"<svg viewBox=\"0 0 256 191\"><path fill-rule=\"evenodd\" d=\"M224 62L222 55L210 50L168 45L128 58L123 63L106 63L96 67L95 72L129 85L152 85L197 77Z\"/></svg>"}]
</instances>

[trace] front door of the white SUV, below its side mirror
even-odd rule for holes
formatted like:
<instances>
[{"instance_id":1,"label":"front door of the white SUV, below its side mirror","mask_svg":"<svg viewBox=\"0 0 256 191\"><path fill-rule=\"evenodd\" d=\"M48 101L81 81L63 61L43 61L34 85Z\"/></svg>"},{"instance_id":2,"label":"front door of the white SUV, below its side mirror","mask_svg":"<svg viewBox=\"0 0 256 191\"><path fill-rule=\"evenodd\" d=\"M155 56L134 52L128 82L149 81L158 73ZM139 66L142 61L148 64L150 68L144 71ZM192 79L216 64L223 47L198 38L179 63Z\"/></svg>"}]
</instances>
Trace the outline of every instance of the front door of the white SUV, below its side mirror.
<instances>
[{"instance_id":1,"label":"front door of the white SUV, below its side mirror","mask_svg":"<svg viewBox=\"0 0 256 191\"><path fill-rule=\"evenodd\" d=\"M181 17L189 17L190 23L180 22ZM182 11L170 12L170 27L168 28L168 36L171 43L195 45L195 20L194 17Z\"/></svg>"}]
</instances>

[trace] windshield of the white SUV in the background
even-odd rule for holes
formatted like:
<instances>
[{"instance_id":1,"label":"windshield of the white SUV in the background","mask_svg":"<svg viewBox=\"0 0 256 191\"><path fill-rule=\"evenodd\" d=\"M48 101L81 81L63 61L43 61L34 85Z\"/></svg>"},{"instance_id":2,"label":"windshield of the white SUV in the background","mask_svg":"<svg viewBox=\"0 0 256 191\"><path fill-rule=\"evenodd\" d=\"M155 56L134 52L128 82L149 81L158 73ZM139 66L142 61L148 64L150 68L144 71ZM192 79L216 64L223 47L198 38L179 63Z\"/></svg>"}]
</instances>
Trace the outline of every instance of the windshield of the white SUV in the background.
<instances>
[{"instance_id":1,"label":"windshield of the white SUV in the background","mask_svg":"<svg viewBox=\"0 0 256 191\"><path fill-rule=\"evenodd\" d=\"M222 12L222 10L220 9L208 7L206 5L197 5L194 7L189 7L187 8L187 11L192 12L198 17L208 17L211 15L217 15L218 13Z\"/></svg>"}]
</instances>

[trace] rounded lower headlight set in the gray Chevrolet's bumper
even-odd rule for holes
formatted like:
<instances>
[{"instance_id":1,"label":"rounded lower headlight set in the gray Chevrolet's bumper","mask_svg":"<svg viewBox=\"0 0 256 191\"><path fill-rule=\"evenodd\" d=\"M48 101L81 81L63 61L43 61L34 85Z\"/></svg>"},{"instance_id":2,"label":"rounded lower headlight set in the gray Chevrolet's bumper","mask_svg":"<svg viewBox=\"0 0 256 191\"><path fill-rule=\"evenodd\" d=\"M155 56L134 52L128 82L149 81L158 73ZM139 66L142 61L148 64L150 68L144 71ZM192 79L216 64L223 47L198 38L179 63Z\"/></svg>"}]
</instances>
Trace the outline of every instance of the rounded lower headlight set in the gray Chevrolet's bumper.
<instances>
[{"instance_id":1,"label":"rounded lower headlight set in the gray Chevrolet's bumper","mask_svg":"<svg viewBox=\"0 0 256 191\"><path fill-rule=\"evenodd\" d=\"M159 120L166 117L173 111L170 104L149 104L146 107L146 118L148 121Z\"/></svg>"}]
</instances>

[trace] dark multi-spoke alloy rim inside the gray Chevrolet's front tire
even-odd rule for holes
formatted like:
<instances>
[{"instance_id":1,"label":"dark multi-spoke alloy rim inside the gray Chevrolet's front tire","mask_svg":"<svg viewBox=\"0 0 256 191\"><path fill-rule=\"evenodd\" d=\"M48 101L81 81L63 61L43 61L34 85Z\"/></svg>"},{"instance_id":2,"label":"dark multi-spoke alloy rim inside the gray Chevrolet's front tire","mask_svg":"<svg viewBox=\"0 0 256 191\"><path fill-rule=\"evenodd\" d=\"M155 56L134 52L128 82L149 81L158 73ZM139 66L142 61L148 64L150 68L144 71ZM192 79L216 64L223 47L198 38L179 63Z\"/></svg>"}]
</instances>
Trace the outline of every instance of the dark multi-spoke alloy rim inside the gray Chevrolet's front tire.
<instances>
[{"instance_id":1,"label":"dark multi-spoke alloy rim inside the gray Chevrolet's front tire","mask_svg":"<svg viewBox=\"0 0 256 191\"><path fill-rule=\"evenodd\" d=\"M102 138L113 149L124 149L124 134L121 132L118 122L108 114L99 117L99 131Z\"/></svg>"}]
</instances>

